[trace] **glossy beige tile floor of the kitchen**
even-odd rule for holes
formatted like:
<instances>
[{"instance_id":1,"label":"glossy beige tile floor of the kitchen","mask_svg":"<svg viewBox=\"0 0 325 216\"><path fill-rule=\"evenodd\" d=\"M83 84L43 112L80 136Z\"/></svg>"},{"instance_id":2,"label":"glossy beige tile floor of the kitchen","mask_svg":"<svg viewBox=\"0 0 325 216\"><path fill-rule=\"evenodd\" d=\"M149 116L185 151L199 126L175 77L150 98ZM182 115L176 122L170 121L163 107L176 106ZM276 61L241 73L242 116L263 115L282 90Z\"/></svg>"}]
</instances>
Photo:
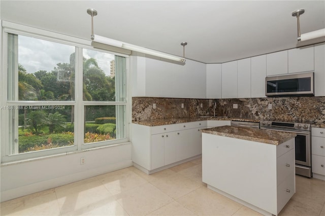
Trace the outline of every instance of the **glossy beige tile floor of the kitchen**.
<instances>
[{"instance_id":1,"label":"glossy beige tile floor of the kitchen","mask_svg":"<svg viewBox=\"0 0 325 216\"><path fill-rule=\"evenodd\" d=\"M325 215L325 182L296 176L279 215ZM201 158L151 175L128 167L1 203L1 215L261 215L207 189Z\"/></svg>"}]
</instances>

